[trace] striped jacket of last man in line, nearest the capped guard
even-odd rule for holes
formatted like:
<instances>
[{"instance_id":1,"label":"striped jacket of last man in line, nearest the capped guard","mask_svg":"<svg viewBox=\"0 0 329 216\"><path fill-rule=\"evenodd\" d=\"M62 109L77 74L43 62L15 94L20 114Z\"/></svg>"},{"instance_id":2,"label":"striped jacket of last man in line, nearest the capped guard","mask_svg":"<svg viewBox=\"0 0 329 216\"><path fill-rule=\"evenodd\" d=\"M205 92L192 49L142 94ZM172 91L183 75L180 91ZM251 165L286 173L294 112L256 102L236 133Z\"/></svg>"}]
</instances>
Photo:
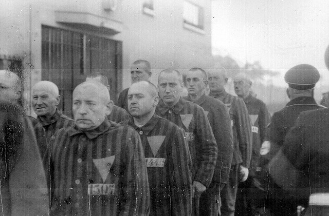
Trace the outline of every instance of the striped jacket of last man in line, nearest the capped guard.
<instances>
[{"instance_id":1,"label":"striped jacket of last man in line, nearest the capped guard","mask_svg":"<svg viewBox=\"0 0 329 216\"><path fill-rule=\"evenodd\" d=\"M247 106L251 121L252 155L249 175L254 176L256 171L261 171L260 150L266 136L270 117L266 105L261 100L253 97L251 94L243 100Z\"/></svg>"}]
</instances>

